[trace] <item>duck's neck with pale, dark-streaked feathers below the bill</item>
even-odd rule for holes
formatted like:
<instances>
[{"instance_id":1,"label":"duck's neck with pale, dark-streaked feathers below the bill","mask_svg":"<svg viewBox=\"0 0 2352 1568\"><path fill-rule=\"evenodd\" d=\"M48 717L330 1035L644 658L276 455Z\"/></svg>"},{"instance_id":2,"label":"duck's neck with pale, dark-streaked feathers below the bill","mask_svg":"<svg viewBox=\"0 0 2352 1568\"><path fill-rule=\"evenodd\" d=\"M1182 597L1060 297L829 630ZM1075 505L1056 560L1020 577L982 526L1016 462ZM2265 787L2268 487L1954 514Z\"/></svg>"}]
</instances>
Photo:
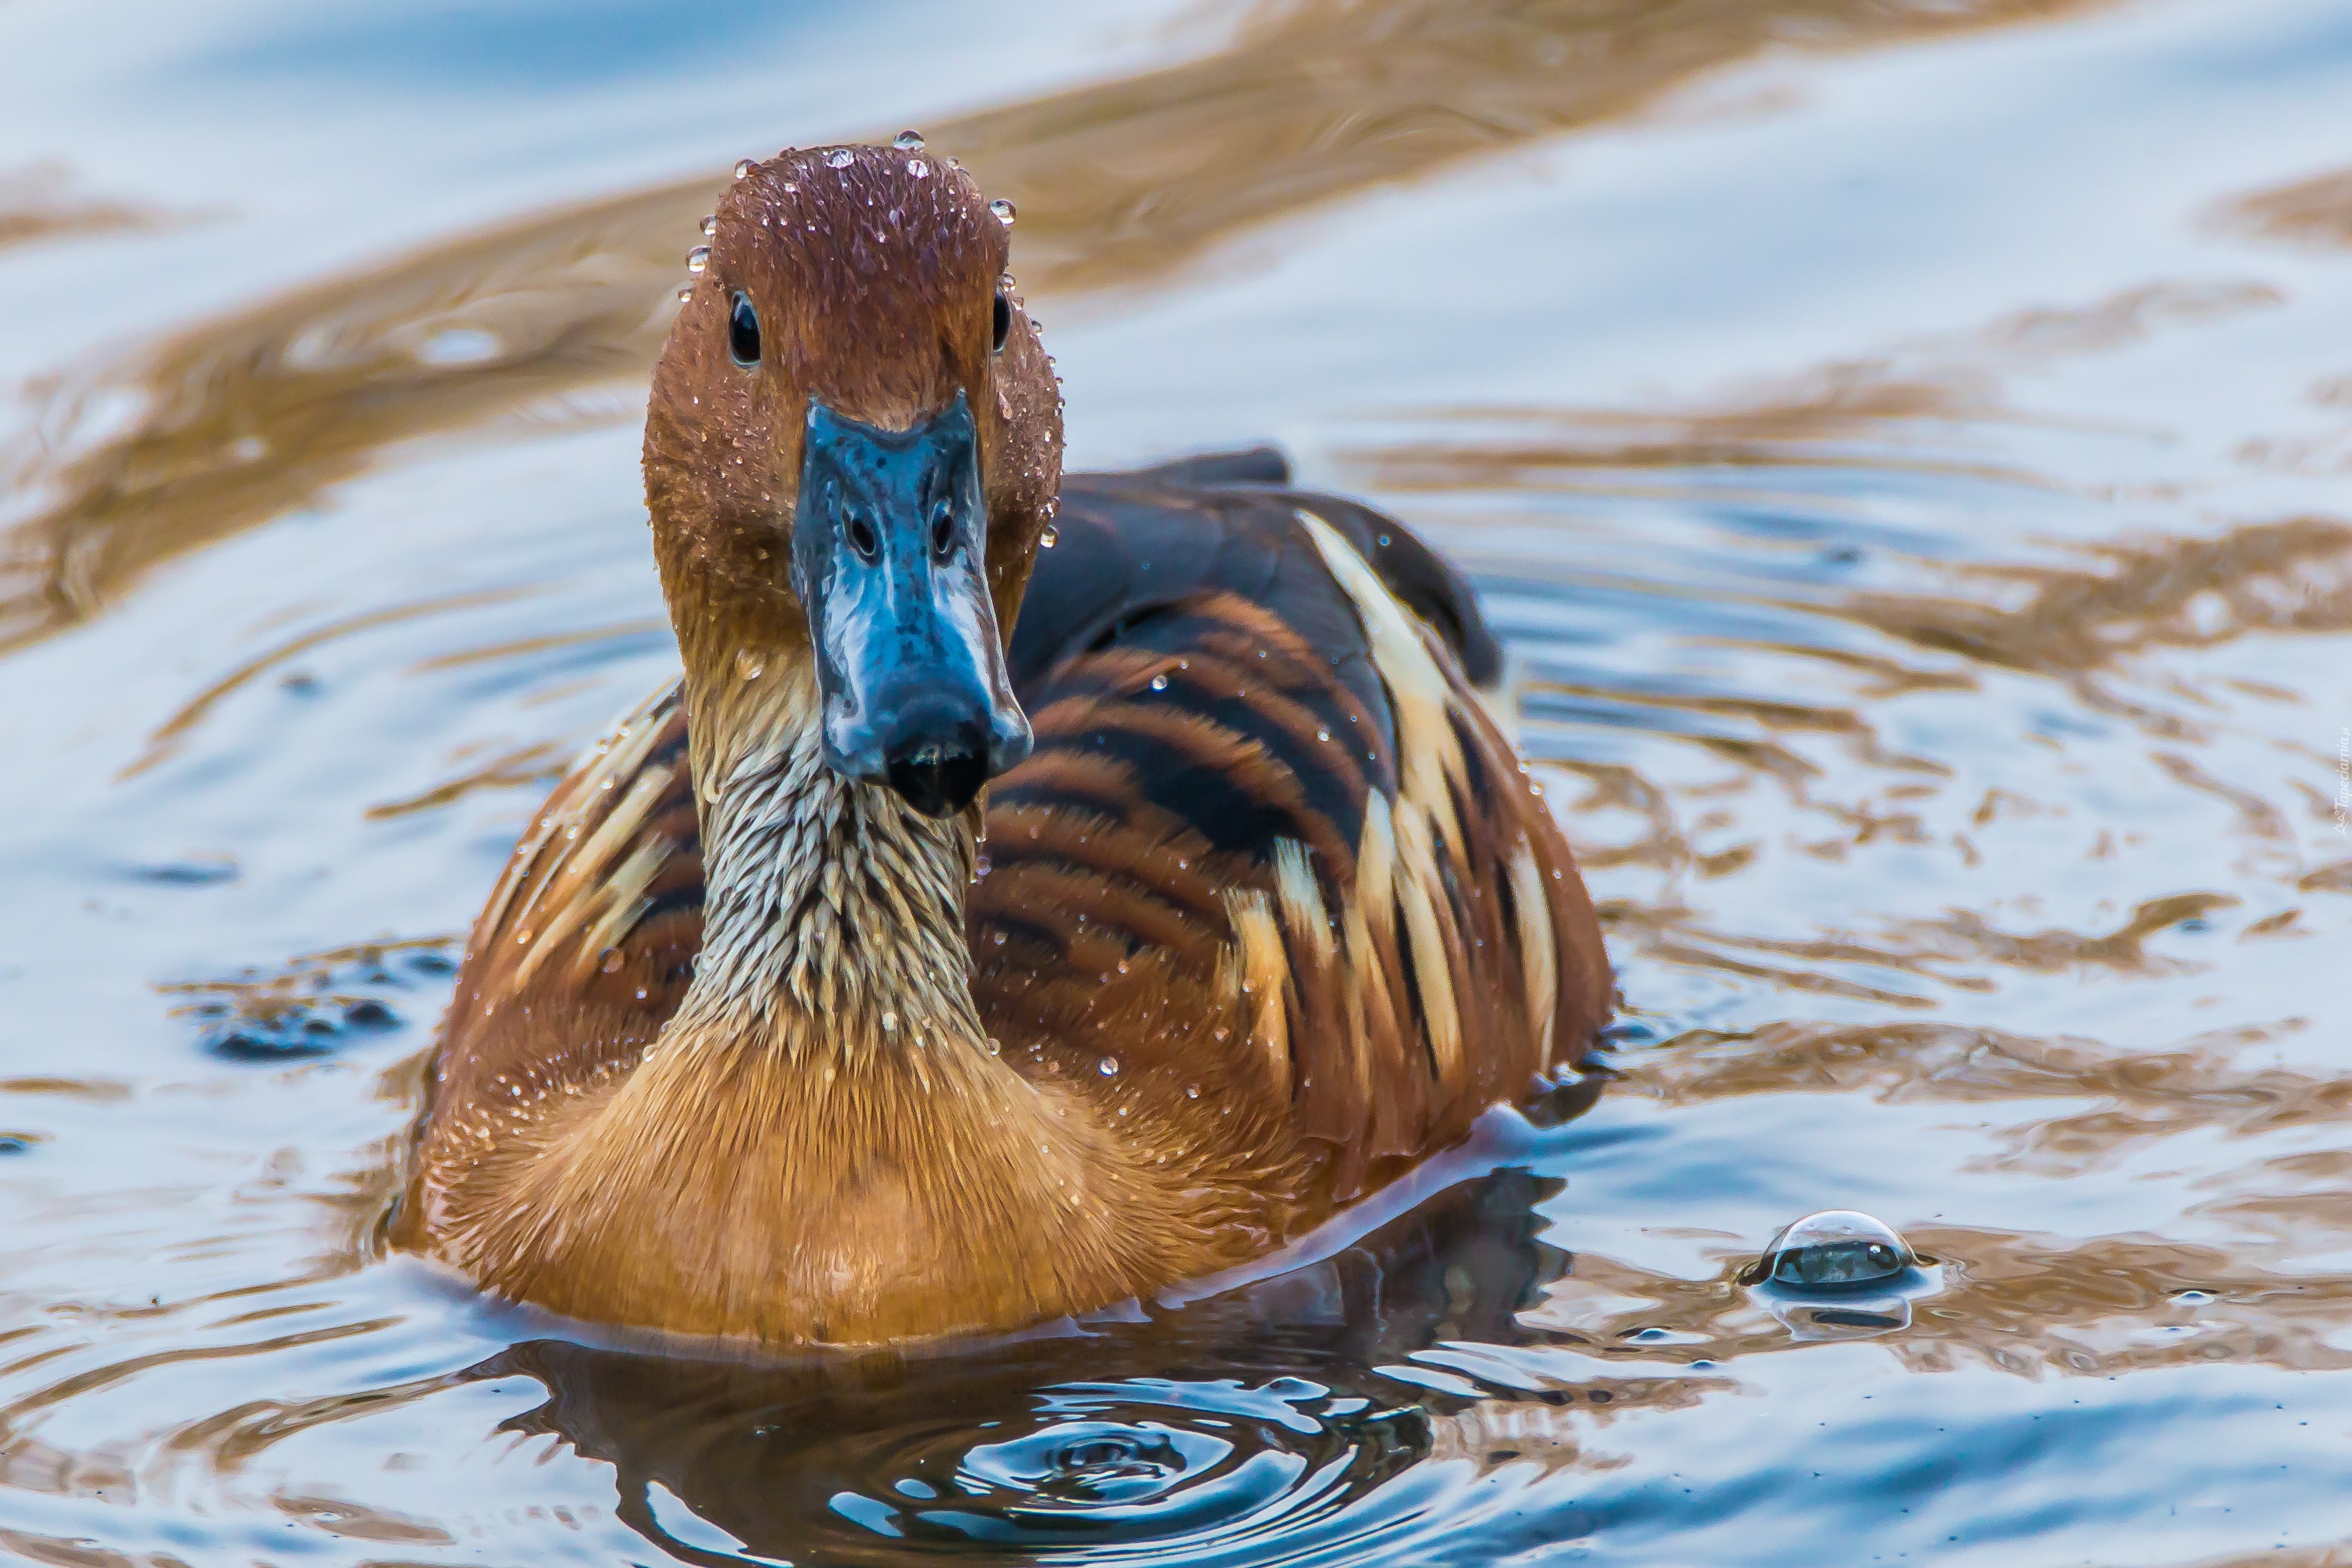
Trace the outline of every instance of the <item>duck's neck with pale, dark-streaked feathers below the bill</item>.
<instances>
[{"instance_id":1,"label":"duck's neck with pale, dark-streaked feathers below the bill","mask_svg":"<svg viewBox=\"0 0 2352 1568\"><path fill-rule=\"evenodd\" d=\"M703 950L663 1044L856 1063L981 1051L964 945L978 811L934 820L826 766L807 661L689 691Z\"/></svg>"}]
</instances>

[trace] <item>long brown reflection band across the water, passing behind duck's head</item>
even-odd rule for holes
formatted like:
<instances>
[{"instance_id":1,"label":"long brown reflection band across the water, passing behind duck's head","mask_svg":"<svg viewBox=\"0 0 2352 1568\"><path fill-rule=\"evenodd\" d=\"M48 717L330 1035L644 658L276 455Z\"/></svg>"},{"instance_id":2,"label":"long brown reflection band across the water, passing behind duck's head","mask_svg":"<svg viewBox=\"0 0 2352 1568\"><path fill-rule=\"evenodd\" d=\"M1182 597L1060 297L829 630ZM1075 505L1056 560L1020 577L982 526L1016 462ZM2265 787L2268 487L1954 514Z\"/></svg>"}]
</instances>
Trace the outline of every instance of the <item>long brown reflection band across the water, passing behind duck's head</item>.
<instances>
[{"instance_id":1,"label":"long brown reflection band across the water, passing behind duck's head","mask_svg":"<svg viewBox=\"0 0 2352 1568\"><path fill-rule=\"evenodd\" d=\"M1018 202L1030 292L1094 292L1374 186L1623 118L1771 47L1891 45L2091 2L1291 0L1207 59L929 132ZM644 374L677 256L722 183L694 176L421 247L56 383L42 442L14 461L14 487L40 501L0 534L0 649L308 503L383 447L534 407L562 418L567 395ZM122 395L141 402L129 430L78 444L75 425ZM52 447L73 456L49 461Z\"/></svg>"}]
</instances>

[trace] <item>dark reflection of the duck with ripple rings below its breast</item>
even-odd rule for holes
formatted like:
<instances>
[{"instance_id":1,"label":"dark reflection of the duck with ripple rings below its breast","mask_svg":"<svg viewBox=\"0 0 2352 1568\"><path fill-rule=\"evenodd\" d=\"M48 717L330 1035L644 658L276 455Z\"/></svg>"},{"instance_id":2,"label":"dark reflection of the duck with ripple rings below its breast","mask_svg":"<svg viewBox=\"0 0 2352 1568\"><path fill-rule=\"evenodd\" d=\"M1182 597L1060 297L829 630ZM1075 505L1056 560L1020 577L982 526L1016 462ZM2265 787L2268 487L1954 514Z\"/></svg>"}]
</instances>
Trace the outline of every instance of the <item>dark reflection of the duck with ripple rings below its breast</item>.
<instances>
[{"instance_id":1,"label":"dark reflection of the duck with ripple rings below its breast","mask_svg":"<svg viewBox=\"0 0 2352 1568\"><path fill-rule=\"evenodd\" d=\"M997 1347L755 1366L527 1340L461 1378L539 1382L501 1432L612 1465L619 1519L684 1561L1263 1561L1348 1540L1341 1521L1432 1453L1432 1413L1374 1368L1517 1342L1515 1312L1564 1265L1531 1215L1557 1187L1479 1178L1282 1279Z\"/></svg>"}]
</instances>

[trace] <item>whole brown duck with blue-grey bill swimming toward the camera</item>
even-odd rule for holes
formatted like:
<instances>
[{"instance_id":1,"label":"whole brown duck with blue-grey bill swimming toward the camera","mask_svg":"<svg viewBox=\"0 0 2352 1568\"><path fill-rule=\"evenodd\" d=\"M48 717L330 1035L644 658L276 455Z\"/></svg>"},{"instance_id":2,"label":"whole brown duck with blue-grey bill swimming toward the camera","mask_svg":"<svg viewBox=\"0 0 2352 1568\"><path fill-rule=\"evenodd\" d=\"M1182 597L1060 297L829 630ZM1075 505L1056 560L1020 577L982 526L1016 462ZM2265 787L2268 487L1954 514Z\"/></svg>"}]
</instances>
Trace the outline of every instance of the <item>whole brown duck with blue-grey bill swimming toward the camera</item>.
<instances>
[{"instance_id":1,"label":"whole brown duck with blue-grey bill swimming toward the camera","mask_svg":"<svg viewBox=\"0 0 2352 1568\"><path fill-rule=\"evenodd\" d=\"M1002 1335L1585 1060L1475 590L1272 449L1065 477L1011 219L920 146L739 165L647 397L680 675L492 889L393 1246L626 1331Z\"/></svg>"}]
</instances>

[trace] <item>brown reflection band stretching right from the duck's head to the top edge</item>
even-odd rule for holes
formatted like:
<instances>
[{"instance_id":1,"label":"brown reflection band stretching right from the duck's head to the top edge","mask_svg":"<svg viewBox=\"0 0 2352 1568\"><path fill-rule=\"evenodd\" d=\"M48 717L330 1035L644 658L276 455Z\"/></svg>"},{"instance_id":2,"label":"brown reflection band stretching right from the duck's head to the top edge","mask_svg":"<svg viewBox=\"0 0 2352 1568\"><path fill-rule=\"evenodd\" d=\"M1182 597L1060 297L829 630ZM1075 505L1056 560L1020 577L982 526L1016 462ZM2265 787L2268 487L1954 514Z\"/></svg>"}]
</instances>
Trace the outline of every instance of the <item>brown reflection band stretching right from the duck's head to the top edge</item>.
<instances>
[{"instance_id":1,"label":"brown reflection band stretching right from the duck's head to the top edge","mask_svg":"<svg viewBox=\"0 0 2352 1568\"><path fill-rule=\"evenodd\" d=\"M957 120L934 139L1021 205L1016 261L1035 284L1101 289L1315 205L1621 120L1773 47L1856 49L2082 9L1275 0L1209 59Z\"/></svg>"}]
</instances>

